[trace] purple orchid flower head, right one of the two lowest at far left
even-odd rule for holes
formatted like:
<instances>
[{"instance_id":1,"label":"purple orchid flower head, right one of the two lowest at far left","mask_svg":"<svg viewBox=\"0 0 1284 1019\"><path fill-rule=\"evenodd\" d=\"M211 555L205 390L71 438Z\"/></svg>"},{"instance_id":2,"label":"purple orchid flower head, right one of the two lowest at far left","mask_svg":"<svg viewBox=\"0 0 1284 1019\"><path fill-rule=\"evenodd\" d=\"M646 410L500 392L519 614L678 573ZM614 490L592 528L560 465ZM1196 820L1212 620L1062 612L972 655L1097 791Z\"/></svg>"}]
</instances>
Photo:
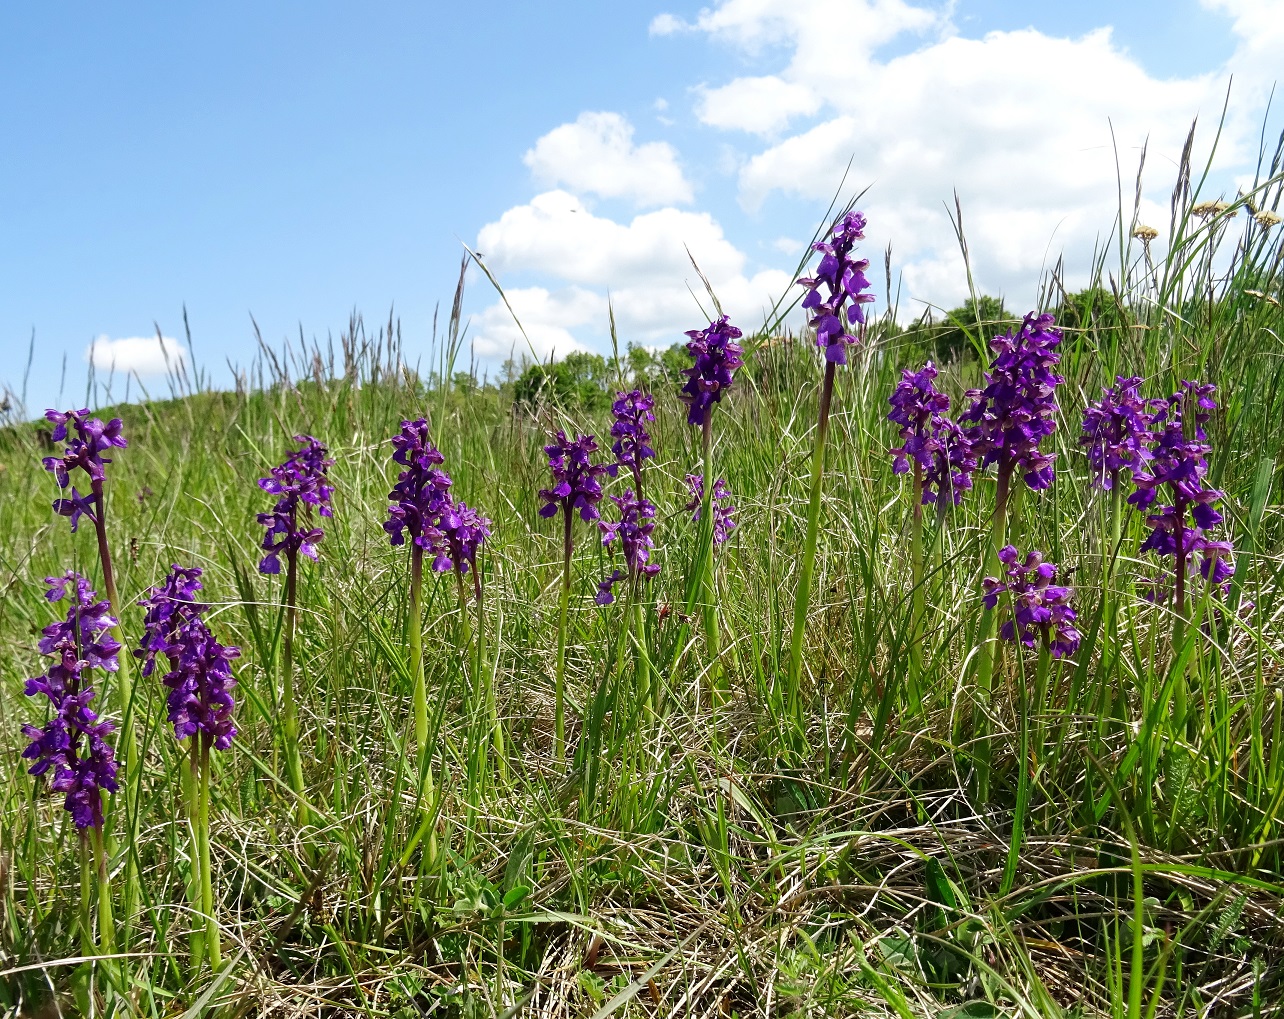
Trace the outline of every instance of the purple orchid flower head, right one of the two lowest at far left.
<instances>
[{"instance_id":1,"label":"purple orchid flower head, right one of the two lowest at far left","mask_svg":"<svg viewBox=\"0 0 1284 1019\"><path fill-rule=\"evenodd\" d=\"M148 610L141 644L134 652L143 658L143 675L150 675L155 656L169 660L163 683L169 688L168 719L175 739L202 734L214 749L227 749L236 726L231 714L235 702L229 688L236 685L231 662L240 648L220 644L202 616L209 606L195 601L200 590L200 570L171 566L169 575L139 602Z\"/></svg>"}]
</instances>

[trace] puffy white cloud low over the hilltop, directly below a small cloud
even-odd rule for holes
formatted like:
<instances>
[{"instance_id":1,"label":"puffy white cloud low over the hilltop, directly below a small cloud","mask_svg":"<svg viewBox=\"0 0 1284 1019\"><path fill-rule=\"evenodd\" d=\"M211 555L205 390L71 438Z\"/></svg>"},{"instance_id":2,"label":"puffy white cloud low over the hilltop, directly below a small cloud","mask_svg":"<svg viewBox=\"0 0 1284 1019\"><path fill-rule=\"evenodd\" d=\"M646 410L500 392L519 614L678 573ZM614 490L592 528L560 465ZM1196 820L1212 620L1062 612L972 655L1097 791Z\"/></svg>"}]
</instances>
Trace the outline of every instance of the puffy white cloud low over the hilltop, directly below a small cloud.
<instances>
[{"instance_id":1,"label":"puffy white cloud low over the hilltop, directly below a small cloud","mask_svg":"<svg viewBox=\"0 0 1284 1019\"><path fill-rule=\"evenodd\" d=\"M791 282L778 270L750 271L746 255L709 213L664 208L620 223L594 216L561 190L537 195L484 226L478 249L501 277L553 276L568 285L562 291L506 291L541 357L574 349L577 327L603 338L607 299L623 341L668 345L682 339L683 330L702 325L700 304L706 311L710 304L688 250L724 311L750 327ZM507 355L514 343L523 353L525 341L503 305L485 309L478 352Z\"/></svg>"}]
</instances>

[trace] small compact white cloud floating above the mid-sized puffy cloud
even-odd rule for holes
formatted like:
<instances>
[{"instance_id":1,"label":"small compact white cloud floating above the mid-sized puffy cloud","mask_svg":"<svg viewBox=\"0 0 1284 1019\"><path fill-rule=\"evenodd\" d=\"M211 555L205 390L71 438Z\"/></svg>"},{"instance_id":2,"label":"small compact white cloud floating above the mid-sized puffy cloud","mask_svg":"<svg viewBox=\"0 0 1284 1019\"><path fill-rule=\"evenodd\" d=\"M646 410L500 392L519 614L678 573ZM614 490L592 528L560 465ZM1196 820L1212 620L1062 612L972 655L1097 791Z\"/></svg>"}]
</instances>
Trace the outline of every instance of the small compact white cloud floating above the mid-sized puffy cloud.
<instances>
[{"instance_id":1,"label":"small compact white cloud floating above the mid-sized puffy cloud","mask_svg":"<svg viewBox=\"0 0 1284 1019\"><path fill-rule=\"evenodd\" d=\"M695 194L664 141L633 144L633 124L619 113L582 113L535 142L523 162L543 186L625 198L639 207L690 203Z\"/></svg>"}]
</instances>

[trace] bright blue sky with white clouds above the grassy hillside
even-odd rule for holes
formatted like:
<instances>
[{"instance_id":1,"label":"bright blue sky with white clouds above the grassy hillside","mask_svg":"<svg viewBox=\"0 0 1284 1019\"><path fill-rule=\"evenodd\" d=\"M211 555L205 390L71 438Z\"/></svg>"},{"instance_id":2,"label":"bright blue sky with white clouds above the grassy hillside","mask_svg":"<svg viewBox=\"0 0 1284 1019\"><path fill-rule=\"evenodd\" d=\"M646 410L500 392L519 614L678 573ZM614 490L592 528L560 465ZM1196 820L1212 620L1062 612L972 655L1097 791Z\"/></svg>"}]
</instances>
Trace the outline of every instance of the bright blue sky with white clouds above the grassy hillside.
<instances>
[{"instance_id":1,"label":"bright blue sky with white clouds above the grassy hillside","mask_svg":"<svg viewBox=\"0 0 1284 1019\"><path fill-rule=\"evenodd\" d=\"M250 314L280 343L395 307L426 358L461 241L539 355L601 349L607 295L624 339L700 325L683 245L760 318L853 157L907 307L959 296L953 187L982 286L1019 302L1109 227L1107 118L1129 176L1150 137L1157 216L1234 72L1242 178L1280 24L1284 0L5 5L0 388L21 391L35 330L33 412L81 402L98 338L163 389L159 347L119 343L157 326L226 384ZM520 354L469 287L483 363Z\"/></svg>"}]
</instances>

